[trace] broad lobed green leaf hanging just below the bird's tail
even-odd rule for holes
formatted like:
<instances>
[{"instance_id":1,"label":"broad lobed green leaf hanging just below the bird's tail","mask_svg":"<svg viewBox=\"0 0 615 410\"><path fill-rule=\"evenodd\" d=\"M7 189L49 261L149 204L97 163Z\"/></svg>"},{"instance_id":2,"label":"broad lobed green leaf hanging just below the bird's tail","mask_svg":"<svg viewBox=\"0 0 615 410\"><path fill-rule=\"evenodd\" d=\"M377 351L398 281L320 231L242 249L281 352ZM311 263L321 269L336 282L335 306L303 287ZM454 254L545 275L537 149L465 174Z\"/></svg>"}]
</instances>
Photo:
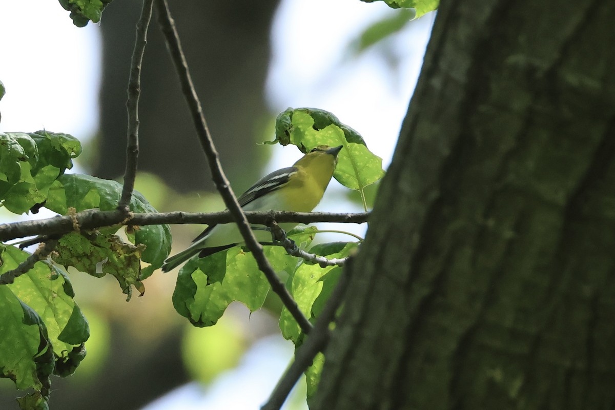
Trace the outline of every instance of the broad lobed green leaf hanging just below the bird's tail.
<instances>
[{"instance_id":1,"label":"broad lobed green leaf hanging just below the bird's tail","mask_svg":"<svg viewBox=\"0 0 615 410\"><path fill-rule=\"evenodd\" d=\"M298 245L311 243L315 227L293 229L288 237ZM290 274L297 258L281 246L264 246L264 253L279 274ZM206 258L189 259L180 269L173 292L173 306L194 326L212 326L233 301L254 311L263 306L269 282L258 269L252 253L235 246Z\"/></svg>"}]
</instances>

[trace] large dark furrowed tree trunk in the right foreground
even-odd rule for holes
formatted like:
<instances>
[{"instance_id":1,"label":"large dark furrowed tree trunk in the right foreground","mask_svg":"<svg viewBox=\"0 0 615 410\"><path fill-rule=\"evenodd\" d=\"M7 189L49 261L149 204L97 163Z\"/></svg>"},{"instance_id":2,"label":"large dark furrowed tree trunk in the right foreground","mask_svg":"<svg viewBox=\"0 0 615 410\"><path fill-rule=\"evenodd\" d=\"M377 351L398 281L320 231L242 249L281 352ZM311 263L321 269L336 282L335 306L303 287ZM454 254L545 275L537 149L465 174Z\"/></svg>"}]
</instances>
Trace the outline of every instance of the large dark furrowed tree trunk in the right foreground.
<instances>
[{"instance_id":1,"label":"large dark furrowed tree trunk in the right foreground","mask_svg":"<svg viewBox=\"0 0 615 410\"><path fill-rule=\"evenodd\" d=\"M614 21L442 2L313 408L615 406Z\"/></svg>"}]
</instances>

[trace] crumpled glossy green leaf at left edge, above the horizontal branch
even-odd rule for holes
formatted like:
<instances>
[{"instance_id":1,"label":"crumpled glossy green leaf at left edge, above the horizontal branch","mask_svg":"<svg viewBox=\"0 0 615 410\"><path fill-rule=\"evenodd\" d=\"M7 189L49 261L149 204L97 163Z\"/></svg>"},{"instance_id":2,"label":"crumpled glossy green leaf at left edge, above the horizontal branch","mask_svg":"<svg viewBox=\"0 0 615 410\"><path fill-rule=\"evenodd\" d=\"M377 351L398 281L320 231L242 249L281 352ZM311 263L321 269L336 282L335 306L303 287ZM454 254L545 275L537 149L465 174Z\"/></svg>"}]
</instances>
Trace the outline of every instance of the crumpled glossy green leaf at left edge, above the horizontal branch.
<instances>
[{"instance_id":1,"label":"crumpled glossy green leaf at left edge, above the horizontal branch","mask_svg":"<svg viewBox=\"0 0 615 410\"><path fill-rule=\"evenodd\" d=\"M63 133L0 133L0 200L14 213L42 203L58 176L73 167L81 143Z\"/></svg>"}]
</instances>

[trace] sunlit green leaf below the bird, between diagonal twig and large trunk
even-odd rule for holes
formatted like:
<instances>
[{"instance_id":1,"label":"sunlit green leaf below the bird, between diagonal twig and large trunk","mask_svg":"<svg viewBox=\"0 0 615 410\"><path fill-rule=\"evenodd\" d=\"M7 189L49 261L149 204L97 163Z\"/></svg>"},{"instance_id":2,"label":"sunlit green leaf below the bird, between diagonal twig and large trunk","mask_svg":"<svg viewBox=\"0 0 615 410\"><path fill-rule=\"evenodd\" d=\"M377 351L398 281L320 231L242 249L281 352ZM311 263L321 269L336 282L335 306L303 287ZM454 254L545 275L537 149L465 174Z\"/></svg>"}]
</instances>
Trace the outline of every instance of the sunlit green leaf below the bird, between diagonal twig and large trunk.
<instances>
[{"instance_id":1,"label":"sunlit green leaf below the bird, between diagonal twig and large trunk","mask_svg":"<svg viewBox=\"0 0 615 410\"><path fill-rule=\"evenodd\" d=\"M329 259L345 258L356 247L357 243L355 242L320 243L319 245L312 246L309 253L325 256ZM330 275L330 279L338 278L341 269L339 266L320 267L319 265L303 261L293 272L290 293L306 317L311 320L316 318L317 314L314 312L315 301L317 301L320 294L328 295L335 288L337 280L323 280L325 275ZM315 306L318 309L317 313L320 313L319 309L322 309L322 304L325 301L326 299L323 298ZM302 337L301 328L286 308L282 309L280 329L282 330L282 336L286 339L292 340L295 344L300 343Z\"/></svg>"}]
</instances>

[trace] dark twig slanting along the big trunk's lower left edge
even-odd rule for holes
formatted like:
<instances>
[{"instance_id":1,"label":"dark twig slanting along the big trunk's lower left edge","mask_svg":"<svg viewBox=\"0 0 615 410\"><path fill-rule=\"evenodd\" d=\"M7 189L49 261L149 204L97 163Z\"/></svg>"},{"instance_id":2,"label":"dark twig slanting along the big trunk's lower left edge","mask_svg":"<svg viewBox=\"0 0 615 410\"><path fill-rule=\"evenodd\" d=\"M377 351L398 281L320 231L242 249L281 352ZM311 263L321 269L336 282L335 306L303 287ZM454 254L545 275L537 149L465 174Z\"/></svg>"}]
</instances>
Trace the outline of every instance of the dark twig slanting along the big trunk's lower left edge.
<instances>
[{"instance_id":1,"label":"dark twig slanting along the big trunk's lower left edge","mask_svg":"<svg viewBox=\"0 0 615 410\"><path fill-rule=\"evenodd\" d=\"M351 264L351 261L352 259L349 259L348 264ZM334 320L335 313L344 299L344 294L346 294L350 278L349 268L350 266L346 266L342 272L338 284L316 320L312 333L309 334L303 345L296 349L295 360L288 366L280 381L277 382L276 388L271 392L269 400L261 407L261 410L278 410L282 407L301 374L312 365L317 353L323 352L327 347L330 337L329 323Z\"/></svg>"}]
</instances>

